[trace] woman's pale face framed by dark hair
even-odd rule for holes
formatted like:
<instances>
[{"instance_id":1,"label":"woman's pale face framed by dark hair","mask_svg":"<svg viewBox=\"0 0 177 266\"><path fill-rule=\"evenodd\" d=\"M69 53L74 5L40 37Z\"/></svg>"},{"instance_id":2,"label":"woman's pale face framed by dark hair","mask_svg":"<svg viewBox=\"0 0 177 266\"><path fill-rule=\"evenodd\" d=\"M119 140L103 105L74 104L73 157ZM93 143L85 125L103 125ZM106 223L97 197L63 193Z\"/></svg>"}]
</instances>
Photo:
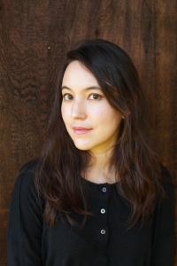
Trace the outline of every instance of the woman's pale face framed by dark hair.
<instances>
[{"instance_id":1,"label":"woman's pale face framed by dark hair","mask_svg":"<svg viewBox=\"0 0 177 266\"><path fill-rule=\"evenodd\" d=\"M122 119L122 114L112 108L99 88L95 76L80 61L74 60L66 67L61 105L65 128L79 150L93 153L112 148Z\"/></svg>"}]
</instances>

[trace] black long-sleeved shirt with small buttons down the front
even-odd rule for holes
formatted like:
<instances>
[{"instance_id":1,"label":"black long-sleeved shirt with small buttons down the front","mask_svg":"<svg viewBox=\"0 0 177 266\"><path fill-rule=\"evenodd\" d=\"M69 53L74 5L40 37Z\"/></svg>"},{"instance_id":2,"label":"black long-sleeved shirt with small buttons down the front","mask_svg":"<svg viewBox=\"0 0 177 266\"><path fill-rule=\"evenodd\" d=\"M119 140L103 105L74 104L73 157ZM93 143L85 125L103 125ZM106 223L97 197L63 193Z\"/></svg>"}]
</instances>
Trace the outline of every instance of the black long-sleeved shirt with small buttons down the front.
<instances>
[{"instance_id":1,"label":"black long-sleeved shirt with small buttons down the front","mask_svg":"<svg viewBox=\"0 0 177 266\"><path fill-rule=\"evenodd\" d=\"M141 230L138 222L127 231L130 206L116 190L119 182L96 184L83 177L95 215L89 216L81 230L61 219L49 227L42 219L33 184L34 166L31 160L21 168L12 192L8 266L173 266L174 190L167 168L163 180L168 200L158 202Z\"/></svg>"}]
</instances>

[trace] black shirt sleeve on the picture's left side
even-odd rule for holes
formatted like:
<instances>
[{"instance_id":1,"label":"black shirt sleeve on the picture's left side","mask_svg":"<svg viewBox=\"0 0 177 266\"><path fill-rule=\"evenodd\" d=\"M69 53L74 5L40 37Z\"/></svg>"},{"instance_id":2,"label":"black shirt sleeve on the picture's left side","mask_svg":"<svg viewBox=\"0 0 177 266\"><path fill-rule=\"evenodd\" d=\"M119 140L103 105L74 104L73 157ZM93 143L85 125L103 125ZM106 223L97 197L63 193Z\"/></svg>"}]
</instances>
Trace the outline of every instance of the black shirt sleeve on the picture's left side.
<instances>
[{"instance_id":1,"label":"black shirt sleeve on the picture's left side","mask_svg":"<svg viewBox=\"0 0 177 266\"><path fill-rule=\"evenodd\" d=\"M33 162L19 170L7 224L7 266L42 265L42 205L33 183Z\"/></svg>"}]
</instances>

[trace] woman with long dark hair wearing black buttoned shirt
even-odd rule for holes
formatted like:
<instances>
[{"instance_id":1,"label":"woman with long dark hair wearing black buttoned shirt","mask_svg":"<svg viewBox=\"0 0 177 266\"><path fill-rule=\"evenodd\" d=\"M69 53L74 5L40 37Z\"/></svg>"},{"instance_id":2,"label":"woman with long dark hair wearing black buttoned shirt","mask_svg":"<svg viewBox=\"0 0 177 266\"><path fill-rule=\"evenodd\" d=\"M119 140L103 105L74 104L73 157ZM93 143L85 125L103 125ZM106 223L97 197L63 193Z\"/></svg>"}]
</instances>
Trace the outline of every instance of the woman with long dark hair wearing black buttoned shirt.
<instances>
[{"instance_id":1,"label":"woman with long dark hair wearing black buttoned shirt","mask_svg":"<svg viewBox=\"0 0 177 266\"><path fill-rule=\"evenodd\" d=\"M8 266L173 265L173 177L148 145L145 111L118 45L68 51L42 154L12 193Z\"/></svg>"}]
</instances>

